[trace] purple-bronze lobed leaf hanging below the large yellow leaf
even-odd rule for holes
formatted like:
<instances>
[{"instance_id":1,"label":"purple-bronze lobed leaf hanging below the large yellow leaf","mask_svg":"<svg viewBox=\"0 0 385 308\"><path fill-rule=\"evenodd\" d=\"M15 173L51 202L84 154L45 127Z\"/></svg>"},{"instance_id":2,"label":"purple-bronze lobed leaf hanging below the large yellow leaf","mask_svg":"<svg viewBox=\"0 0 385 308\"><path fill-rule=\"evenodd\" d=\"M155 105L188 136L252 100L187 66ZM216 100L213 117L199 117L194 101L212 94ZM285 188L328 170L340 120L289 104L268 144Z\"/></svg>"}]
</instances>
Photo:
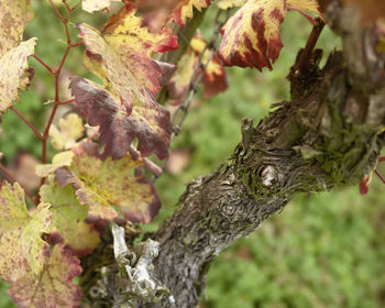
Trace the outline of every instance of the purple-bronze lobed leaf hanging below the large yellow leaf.
<instances>
[{"instance_id":1,"label":"purple-bronze lobed leaf hanging below the large yellow leaf","mask_svg":"<svg viewBox=\"0 0 385 308\"><path fill-rule=\"evenodd\" d=\"M75 108L91 127L100 125L100 142L113 160L123 157L138 138L143 156L155 153L161 160L168 155L169 113L151 97L146 106L130 110L99 85L76 77L70 82L76 97Z\"/></svg>"}]
</instances>

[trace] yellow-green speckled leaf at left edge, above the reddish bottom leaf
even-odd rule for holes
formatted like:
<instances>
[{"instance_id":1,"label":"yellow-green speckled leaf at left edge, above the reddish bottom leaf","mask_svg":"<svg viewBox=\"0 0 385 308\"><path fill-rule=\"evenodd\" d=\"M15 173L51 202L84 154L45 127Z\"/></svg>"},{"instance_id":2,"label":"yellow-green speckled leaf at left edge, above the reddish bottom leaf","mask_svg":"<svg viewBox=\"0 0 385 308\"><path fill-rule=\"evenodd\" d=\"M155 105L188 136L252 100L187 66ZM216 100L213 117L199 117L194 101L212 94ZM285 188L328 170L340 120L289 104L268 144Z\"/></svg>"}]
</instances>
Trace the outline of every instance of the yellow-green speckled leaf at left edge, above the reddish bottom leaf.
<instances>
[{"instance_id":1,"label":"yellow-green speckled leaf at left edge, above the reddish bottom leaf","mask_svg":"<svg viewBox=\"0 0 385 308\"><path fill-rule=\"evenodd\" d=\"M0 277L11 283L29 272L38 274L47 246L41 237L50 228L50 205L40 204L30 213L20 185L4 182L0 189Z\"/></svg>"}]
</instances>

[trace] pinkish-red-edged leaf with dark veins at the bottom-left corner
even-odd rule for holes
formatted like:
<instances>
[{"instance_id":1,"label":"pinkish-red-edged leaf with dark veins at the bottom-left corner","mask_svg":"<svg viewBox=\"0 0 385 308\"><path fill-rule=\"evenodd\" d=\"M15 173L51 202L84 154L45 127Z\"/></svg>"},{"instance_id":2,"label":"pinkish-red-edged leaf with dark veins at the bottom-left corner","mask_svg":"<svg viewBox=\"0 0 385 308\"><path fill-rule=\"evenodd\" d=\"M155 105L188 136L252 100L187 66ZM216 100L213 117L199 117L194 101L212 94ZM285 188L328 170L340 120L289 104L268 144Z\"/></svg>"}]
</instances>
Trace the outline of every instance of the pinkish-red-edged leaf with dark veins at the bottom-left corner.
<instances>
[{"instance_id":1,"label":"pinkish-red-edged leaf with dark veins at the bottom-left corner","mask_svg":"<svg viewBox=\"0 0 385 308\"><path fill-rule=\"evenodd\" d=\"M81 273L80 261L63 245L55 245L43 271L26 274L12 284L9 296L22 308L75 308L81 298L81 289L73 279Z\"/></svg>"}]
</instances>

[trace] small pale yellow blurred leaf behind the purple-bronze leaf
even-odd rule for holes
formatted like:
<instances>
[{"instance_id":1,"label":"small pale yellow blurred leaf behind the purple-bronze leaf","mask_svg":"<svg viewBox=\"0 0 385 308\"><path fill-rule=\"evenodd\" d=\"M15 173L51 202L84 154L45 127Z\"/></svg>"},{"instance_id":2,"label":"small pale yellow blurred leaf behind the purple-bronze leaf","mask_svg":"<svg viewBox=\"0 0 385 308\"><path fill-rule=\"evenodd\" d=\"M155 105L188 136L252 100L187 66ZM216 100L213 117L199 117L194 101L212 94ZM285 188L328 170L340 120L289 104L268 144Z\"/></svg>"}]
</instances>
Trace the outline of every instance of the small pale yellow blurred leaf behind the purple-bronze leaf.
<instances>
[{"instance_id":1,"label":"small pale yellow blurred leaf behind the purple-bronze leaf","mask_svg":"<svg viewBox=\"0 0 385 308\"><path fill-rule=\"evenodd\" d=\"M76 141L84 135L84 131L81 118L76 113L69 113L59 120L58 128L51 127L52 146L57 151L70 150Z\"/></svg>"}]
</instances>

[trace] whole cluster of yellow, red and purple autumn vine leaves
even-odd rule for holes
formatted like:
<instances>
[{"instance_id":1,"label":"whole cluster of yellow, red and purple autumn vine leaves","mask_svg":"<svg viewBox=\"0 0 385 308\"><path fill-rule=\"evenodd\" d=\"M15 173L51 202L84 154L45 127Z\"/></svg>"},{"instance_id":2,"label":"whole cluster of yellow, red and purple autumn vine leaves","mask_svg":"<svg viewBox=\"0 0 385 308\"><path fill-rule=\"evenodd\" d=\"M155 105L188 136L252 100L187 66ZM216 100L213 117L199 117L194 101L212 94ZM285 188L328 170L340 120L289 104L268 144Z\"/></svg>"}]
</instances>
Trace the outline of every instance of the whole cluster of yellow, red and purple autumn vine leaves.
<instances>
[{"instance_id":1,"label":"whole cluster of yellow, red and purple autumn vine leaves","mask_svg":"<svg viewBox=\"0 0 385 308\"><path fill-rule=\"evenodd\" d=\"M84 0L82 9L108 10L111 2ZM168 155L169 112L155 99L161 88L168 87L169 103L180 103L199 69L198 58L209 63L202 79L207 97L228 86L222 65L271 69L283 46L279 26L286 11L298 10L310 20L304 10L319 13L315 0L218 1L220 9L242 6L222 29L218 55L209 58L197 33L175 67L154 61L155 53L176 50L173 23L183 29L194 10L211 1L117 2L123 6L101 29L76 25L85 46L84 65L101 84L72 78L77 113L51 127L58 153L36 168L42 177L36 205L28 209L18 183L3 182L0 188L0 277L11 284L9 295L21 307L76 307L81 290L73 278L81 273L79 257L100 242L96 223L148 222L157 213L160 199L143 169L152 166L146 156ZM0 0L2 114L13 110L19 90L33 77L28 58L34 55L36 37L21 40L32 16L30 0ZM58 102L55 98L55 108Z\"/></svg>"}]
</instances>

